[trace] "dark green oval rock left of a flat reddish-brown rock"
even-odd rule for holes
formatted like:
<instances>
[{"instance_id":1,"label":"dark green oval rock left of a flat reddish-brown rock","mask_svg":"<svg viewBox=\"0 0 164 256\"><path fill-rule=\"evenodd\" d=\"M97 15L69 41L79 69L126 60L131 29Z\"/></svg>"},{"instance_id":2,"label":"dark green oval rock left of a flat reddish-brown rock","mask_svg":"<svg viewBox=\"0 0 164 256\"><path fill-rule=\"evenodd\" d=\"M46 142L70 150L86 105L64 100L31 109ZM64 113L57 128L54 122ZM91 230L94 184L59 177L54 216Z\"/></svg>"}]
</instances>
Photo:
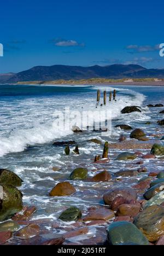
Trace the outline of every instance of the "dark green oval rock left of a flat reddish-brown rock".
<instances>
[{"instance_id":1,"label":"dark green oval rock left of a flat reddish-brown rock","mask_svg":"<svg viewBox=\"0 0 164 256\"><path fill-rule=\"evenodd\" d=\"M71 207L61 214L59 219L63 222L72 222L73 220L78 220L82 216L81 211L77 207Z\"/></svg>"}]
</instances>

